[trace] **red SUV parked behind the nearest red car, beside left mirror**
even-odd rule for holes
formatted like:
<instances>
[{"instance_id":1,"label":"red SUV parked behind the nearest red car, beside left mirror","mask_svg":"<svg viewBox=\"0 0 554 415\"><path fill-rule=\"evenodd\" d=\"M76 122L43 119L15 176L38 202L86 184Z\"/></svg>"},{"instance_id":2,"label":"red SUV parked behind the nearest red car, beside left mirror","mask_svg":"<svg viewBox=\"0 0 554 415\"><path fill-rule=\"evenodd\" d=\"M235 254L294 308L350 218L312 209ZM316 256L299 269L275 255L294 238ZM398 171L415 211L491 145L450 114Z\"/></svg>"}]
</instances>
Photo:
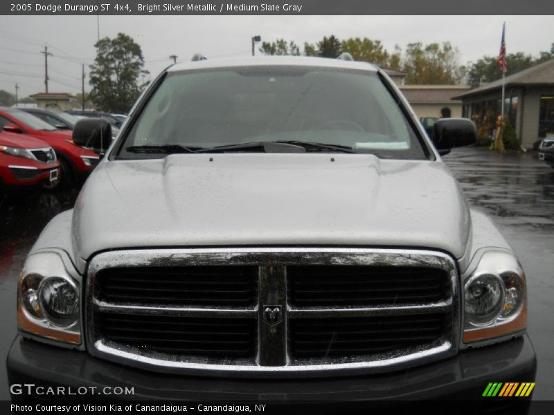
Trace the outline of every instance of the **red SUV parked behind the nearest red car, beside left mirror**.
<instances>
[{"instance_id":1,"label":"red SUV parked behind the nearest red car, beside left mirror","mask_svg":"<svg viewBox=\"0 0 554 415\"><path fill-rule=\"evenodd\" d=\"M0 107L0 129L10 133L28 134L53 147L57 159L60 160L64 181L87 176L100 161L100 156L94 151L73 143L71 131L58 130L19 109Z\"/></svg>"}]
</instances>

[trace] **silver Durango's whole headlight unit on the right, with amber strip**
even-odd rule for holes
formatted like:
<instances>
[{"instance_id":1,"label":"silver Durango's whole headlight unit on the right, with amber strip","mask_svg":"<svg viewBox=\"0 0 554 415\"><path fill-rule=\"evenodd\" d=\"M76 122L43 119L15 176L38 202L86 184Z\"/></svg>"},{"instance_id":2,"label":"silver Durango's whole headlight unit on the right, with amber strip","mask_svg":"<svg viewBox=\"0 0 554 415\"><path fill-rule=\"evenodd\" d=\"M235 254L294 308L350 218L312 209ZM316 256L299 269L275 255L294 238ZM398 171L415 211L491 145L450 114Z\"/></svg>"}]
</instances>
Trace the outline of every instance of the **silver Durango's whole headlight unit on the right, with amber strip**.
<instances>
[{"instance_id":1,"label":"silver Durango's whole headlight unit on the right, with amber strip","mask_svg":"<svg viewBox=\"0 0 554 415\"><path fill-rule=\"evenodd\" d=\"M509 252L488 251L463 284L463 342L501 338L527 324L526 281Z\"/></svg>"}]
</instances>

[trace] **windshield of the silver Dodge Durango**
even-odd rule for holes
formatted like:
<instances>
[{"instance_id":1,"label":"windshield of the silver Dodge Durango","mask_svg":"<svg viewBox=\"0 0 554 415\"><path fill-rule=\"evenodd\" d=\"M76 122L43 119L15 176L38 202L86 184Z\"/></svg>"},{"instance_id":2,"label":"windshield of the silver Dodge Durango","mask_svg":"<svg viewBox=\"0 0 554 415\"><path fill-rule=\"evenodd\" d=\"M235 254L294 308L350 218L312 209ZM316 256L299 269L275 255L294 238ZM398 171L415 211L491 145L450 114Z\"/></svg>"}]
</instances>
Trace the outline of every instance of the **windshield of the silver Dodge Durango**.
<instances>
[{"instance_id":1,"label":"windshield of the silver Dodge Durango","mask_svg":"<svg viewBox=\"0 0 554 415\"><path fill-rule=\"evenodd\" d=\"M124 140L120 158L165 156L126 150L139 146L205 149L277 141L341 145L385 158L427 158L377 73L342 68L247 66L168 73Z\"/></svg>"}]
</instances>

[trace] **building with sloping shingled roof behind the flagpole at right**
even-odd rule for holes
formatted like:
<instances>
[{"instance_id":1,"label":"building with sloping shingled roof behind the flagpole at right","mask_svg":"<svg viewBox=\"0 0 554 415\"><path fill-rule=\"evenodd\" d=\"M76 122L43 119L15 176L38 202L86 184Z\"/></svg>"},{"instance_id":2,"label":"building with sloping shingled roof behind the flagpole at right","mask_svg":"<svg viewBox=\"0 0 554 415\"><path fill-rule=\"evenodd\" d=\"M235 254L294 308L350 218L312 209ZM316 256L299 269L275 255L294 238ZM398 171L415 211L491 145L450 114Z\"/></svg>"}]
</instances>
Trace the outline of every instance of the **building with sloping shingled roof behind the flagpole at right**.
<instances>
[{"instance_id":1,"label":"building with sloping shingled roof behind the flagpole at right","mask_svg":"<svg viewBox=\"0 0 554 415\"><path fill-rule=\"evenodd\" d=\"M554 134L554 59L507 76L504 82L504 112L521 147L531 148L546 135ZM490 133L501 114L502 80L454 99L462 100L463 116L472 118L480 131Z\"/></svg>"}]
</instances>

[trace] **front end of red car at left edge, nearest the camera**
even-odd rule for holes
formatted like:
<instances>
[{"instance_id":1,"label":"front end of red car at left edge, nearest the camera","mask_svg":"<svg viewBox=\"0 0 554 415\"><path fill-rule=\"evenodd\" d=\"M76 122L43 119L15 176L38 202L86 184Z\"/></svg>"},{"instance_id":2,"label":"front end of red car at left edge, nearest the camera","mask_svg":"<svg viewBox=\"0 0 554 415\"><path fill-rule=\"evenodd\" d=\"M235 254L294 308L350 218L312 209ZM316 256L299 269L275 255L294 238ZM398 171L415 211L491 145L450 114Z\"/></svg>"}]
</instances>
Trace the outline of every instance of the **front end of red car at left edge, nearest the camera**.
<instances>
[{"instance_id":1,"label":"front end of red car at left edge, nearest the camera","mask_svg":"<svg viewBox=\"0 0 554 415\"><path fill-rule=\"evenodd\" d=\"M60 183L60 163L46 142L0 132L0 190Z\"/></svg>"}]
</instances>

